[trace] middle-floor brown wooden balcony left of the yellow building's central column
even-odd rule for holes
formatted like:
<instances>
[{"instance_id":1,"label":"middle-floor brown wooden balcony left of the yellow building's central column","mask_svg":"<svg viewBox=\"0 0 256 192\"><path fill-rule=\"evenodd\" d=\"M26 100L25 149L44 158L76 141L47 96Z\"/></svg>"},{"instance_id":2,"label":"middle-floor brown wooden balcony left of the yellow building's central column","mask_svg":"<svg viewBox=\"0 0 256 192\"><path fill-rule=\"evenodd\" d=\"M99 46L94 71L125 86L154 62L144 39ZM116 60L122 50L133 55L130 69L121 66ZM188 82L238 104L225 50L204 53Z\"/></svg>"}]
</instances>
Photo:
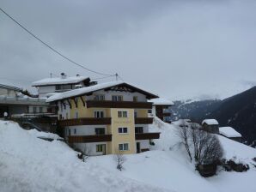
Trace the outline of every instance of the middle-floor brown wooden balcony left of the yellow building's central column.
<instances>
[{"instance_id":1,"label":"middle-floor brown wooden balcony left of the yellow building's central column","mask_svg":"<svg viewBox=\"0 0 256 192\"><path fill-rule=\"evenodd\" d=\"M76 125L92 125L92 124L111 124L111 118L73 118L58 121L59 126L76 126Z\"/></svg>"}]
</instances>

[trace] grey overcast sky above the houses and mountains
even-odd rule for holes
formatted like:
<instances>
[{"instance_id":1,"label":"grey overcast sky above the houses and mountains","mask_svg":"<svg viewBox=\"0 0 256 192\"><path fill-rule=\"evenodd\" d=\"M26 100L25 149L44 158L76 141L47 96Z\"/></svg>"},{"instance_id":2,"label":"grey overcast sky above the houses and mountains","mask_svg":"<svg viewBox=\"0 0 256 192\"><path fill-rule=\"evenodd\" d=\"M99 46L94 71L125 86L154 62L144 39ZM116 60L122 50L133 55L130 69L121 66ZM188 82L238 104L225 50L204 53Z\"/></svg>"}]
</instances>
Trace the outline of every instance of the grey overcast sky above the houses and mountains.
<instances>
[{"instance_id":1,"label":"grey overcast sky above the houses and mountains","mask_svg":"<svg viewBox=\"0 0 256 192\"><path fill-rule=\"evenodd\" d=\"M254 0L0 0L0 7L77 63L168 99L222 99L256 82ZM1 12L0 66L0 83L25 88L51 72L100 76Z\"/></svg>"}]
</instances>

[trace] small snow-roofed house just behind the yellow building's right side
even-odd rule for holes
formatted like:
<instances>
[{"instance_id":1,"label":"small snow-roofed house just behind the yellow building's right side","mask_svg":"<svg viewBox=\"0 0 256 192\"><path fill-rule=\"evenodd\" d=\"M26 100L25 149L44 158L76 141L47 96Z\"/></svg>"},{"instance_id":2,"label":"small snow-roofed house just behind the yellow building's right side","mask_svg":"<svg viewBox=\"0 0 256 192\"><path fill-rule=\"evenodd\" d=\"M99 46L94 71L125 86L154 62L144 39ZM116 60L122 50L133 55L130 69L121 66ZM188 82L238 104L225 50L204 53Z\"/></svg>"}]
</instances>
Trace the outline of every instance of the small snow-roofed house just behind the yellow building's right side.
<instances>
[{"instance_id":1,"label":"small snow-roofed house just behind the yellow building's right side","mask_svg":"<svg viewBox=\"0 0 256 192\"><path fill-rule=\"evenodd\" d=\"M152 110L149 113L159 117L163 122L171 123L170 107L174 105L173 101L164 98L150 99L149 102L153 103Z\"/></svg>"}]
</instances>

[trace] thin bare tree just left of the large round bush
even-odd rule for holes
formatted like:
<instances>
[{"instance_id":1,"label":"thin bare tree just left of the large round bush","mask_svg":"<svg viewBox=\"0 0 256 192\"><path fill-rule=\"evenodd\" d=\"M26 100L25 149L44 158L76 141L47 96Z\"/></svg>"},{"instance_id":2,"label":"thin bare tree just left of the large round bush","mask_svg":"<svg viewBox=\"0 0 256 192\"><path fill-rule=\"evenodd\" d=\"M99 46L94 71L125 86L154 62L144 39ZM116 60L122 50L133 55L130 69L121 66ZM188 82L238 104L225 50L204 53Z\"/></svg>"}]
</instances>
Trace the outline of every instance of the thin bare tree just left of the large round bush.
<instances>
[{"instance_id":1,"label":"thin bare tree just left of the large round bush","mask_svg":"<svg viewBox=\"0 0 256 192\"><path fill-rule=\"evenodd\" d=\"M190 162L192 162L192 153L190 149L190 129L185 120L182 120L180 127L177 131L177 135L180 137L180 144L186 148L186 152L189 156Z\"/></svg>"}]
</instances>

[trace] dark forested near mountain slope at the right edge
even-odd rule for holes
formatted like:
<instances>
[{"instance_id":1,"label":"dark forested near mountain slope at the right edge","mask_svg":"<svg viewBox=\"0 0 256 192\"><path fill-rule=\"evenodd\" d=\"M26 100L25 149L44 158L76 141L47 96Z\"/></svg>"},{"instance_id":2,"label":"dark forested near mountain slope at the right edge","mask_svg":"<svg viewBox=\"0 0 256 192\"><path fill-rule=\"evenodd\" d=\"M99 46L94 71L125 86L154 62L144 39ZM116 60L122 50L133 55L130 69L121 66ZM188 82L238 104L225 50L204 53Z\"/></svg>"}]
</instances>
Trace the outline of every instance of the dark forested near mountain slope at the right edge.
<instances>
[{"instance_id":1,"label":"dark forested near mountain slope at the right edge","mask_svg":"<svg viewBox=\"0 0 256 192\"><path fill-rule=\"evenodd\" d=\"M256 140L256 87L222 100L206 117L233 127L249 142Z\"/></svg>"}]
</instances>

